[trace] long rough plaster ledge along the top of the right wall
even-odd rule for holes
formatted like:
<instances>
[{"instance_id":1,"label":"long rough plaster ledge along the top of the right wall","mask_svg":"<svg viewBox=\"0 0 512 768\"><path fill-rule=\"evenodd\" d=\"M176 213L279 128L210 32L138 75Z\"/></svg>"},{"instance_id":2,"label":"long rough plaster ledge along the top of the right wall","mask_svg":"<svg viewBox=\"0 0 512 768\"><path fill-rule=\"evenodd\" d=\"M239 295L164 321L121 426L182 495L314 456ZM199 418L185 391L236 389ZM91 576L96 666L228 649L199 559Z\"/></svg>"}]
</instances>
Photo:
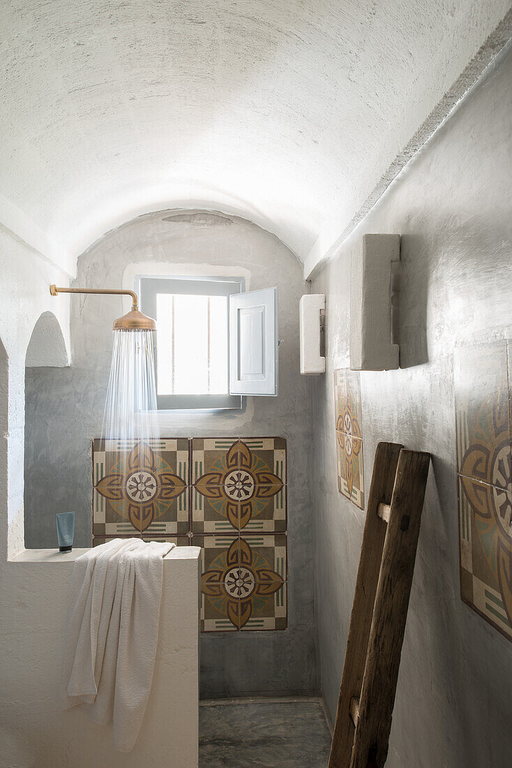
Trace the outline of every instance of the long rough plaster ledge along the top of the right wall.
<instances>
[{"instance_id":1,"label":"long rough plaster ledge along the top of the right wall","mask_svg":"<svg viewBox=\"0 0 512 768\"><path fill-rule=\"evenodd\" d=\"M304 261L304 279L313 280L315 276L323 269L325 264L332 260L342 248L345 240L350 237L354 230L368 216L378 200L391 187L391 184L397 179L401 171L413 160L428 141L434 136L436 131L444 124L448 118L461 106L465 99L471 94L477 84L488 74L488 71L498 63L498 57L504 58L512 48L512 8L502 18L491 35L487 38L481 48L471 59L466 68L461 72L451 88L446 91L444 96L438 101L428 118L421 124L418 131L412 136L404 149L395 157L382 176L381 180L374 187L372 193L368 195L365 202L359 208L358 212L352 217L342 233L331 240L320 235L309 251ZM327 243L325 241L328 241Z\"/></svg>"}]
</instances>

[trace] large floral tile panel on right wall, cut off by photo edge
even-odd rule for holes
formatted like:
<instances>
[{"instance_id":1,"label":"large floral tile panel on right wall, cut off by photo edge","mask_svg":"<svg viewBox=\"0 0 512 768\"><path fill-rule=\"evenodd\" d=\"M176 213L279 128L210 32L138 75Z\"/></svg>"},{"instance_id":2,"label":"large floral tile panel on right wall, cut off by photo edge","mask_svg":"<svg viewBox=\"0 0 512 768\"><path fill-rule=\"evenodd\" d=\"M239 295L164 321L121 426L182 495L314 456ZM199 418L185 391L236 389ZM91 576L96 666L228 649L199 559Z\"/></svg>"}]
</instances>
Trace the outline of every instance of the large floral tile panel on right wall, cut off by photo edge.
<instances>
[{"instance_id":1,"label":"large floral tile panel on right wall, cut off by photo edge","mask_svg":"<svg viewBox=\"0 0 512 768\"><path fill-rule=\"evenodd\" d=\"M454 353L461 598L512 640L507 343Z\"/></svg>"}]
</instances>

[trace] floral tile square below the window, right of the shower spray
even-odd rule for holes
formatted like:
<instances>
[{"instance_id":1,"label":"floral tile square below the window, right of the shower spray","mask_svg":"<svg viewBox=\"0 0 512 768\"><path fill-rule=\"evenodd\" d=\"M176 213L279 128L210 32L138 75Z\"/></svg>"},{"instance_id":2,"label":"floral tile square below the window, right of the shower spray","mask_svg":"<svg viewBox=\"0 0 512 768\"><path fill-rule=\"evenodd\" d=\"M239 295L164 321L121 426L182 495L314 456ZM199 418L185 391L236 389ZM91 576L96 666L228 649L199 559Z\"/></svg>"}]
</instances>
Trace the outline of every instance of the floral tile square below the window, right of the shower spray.
<instances>
[{"instance_id":1,"label":"floral tile square below the window, right of the shower spray","mask_svg":"<svg viewBox=\"0 0 512 768\"><path fill-rule=\"evenodd\" d=\"M215 442L212 460L213 442L193 441L193 531L285 531L286 440Z\"/></svg>"}]
</instances>

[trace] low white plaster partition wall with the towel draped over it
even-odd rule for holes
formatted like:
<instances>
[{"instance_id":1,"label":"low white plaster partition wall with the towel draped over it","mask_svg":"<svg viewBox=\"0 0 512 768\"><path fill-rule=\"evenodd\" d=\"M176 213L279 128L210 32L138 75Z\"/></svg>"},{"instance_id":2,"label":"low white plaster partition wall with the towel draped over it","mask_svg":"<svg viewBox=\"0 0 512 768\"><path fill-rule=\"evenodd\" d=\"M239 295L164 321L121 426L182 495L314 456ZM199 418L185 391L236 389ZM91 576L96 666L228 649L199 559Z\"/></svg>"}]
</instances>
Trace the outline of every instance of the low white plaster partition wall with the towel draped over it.
<instances>
[{"instance_id":1,"label":"low white plaster partition wall with the towel draped over it","mask_svg":"<svg viewBox=\"0 0 512 768\"><path fill-rule=\"evenodd\" d=\"M164 559L153 684L130 753L112 746L111 726L59 705L64 625L74 558L41 550L8 563L12 584L2 605L0 766L2 768L197 768L199 750L200 549ZM27 626L23 618L30 614ZM8 621L5 621L7 615Z\"/></svg>"}]
</instances>

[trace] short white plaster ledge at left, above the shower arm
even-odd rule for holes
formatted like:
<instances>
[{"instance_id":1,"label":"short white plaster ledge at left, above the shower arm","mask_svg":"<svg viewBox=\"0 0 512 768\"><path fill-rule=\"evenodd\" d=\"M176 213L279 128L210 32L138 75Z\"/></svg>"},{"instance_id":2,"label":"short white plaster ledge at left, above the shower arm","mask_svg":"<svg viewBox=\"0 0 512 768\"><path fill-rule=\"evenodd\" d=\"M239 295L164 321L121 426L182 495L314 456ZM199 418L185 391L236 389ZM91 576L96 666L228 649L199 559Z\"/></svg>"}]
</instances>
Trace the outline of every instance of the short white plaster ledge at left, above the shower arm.
<instances>
[{"instance_id":1,"label":"short white plaster ledge at left, above the shower arm","mask_svg":"<svg viewBox=\"0 0 512 768\"><path fill-rule=\"evenodd\" d=\"M56 240L41 230L11 200L0 194L0 230L28 247L40 259L60 270L68 278L76 274L76 259Z\"/></svg>"}]
</instances>

